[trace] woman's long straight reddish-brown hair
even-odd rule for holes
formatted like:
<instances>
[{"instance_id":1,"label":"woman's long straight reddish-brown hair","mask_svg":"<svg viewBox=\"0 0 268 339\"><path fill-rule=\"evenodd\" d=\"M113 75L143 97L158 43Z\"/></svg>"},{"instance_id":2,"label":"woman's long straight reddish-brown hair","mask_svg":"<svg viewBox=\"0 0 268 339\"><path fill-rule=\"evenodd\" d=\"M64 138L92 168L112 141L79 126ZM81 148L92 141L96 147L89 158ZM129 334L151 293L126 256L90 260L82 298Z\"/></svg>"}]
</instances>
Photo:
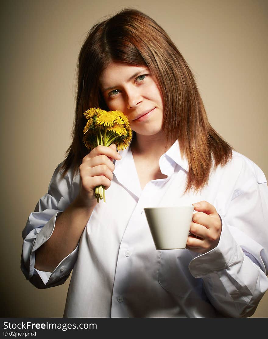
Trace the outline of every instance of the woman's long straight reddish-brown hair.
<instances>
[{"instance_id":1,"label":"woman's long straight reddish-brown hair","mask_svg":"<svg viewBox=\"0 0 268 339\"><path fill-rule=\"evenodd\" d=\"M225 165L231 159L232 147L210 125L194 76L175 44L162 27L136 9L123 9L95 24L81 48L73 141L66 152L62 176L71 167L77 173L88 153L82 141L83 113L90 107L108 109L99 78L110 62L150 69L163 96L166 145L177 139L181 155L189 163L185 191L201 189L213 166Z\"/></svg>"}]
</instances>

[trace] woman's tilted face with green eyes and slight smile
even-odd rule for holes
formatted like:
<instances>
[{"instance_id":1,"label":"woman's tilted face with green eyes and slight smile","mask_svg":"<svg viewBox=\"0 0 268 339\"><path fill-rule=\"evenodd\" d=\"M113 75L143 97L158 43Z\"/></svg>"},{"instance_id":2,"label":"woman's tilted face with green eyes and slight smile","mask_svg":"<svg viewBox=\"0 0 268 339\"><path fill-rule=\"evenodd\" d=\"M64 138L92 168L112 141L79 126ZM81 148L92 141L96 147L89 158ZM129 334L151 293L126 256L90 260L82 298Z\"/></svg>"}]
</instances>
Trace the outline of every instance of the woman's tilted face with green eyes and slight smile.
<instances>
[{"instance_id":1,"label":"woman's tilted face with green eyes and slight smile","mask_svg":"<svg viewBox=\"0 0 268 339\"><path fill-rule=\"evenodd\" d=\"M111 63L100 82L109 109L125 113L133 131L148 136L161 131L163 100L149 68Z\"/></svg>"}]
</instances>

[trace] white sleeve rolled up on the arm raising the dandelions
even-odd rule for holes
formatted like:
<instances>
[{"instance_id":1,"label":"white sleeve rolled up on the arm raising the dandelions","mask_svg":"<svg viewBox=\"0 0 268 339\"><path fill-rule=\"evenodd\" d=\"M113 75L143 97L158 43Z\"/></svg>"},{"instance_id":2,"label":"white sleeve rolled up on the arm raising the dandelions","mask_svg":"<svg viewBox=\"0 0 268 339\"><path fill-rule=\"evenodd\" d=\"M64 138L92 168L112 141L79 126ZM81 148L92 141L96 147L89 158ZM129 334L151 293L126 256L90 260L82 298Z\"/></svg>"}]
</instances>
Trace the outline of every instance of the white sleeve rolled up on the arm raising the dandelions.
<instances>
[{"instance_id":1,"label":"white sleeve rolled up on the arm raising the dandelions","mask_svg":"<svg viewBox=\"0 0 268 339\"><path fill-rule=\"evenodd\" d=\"M73 201L79 188L79 182L69 171L64 178L60 176L61 164L55 169L49 184L48 193L38 201L22 231L23 245L21 270L37 288L48 288L63 284L69 277L78 255L75 250L64 258L55 270L42 272L34 268L35 251L52 235L57 217Z\"/></svg>"}]
</instances>

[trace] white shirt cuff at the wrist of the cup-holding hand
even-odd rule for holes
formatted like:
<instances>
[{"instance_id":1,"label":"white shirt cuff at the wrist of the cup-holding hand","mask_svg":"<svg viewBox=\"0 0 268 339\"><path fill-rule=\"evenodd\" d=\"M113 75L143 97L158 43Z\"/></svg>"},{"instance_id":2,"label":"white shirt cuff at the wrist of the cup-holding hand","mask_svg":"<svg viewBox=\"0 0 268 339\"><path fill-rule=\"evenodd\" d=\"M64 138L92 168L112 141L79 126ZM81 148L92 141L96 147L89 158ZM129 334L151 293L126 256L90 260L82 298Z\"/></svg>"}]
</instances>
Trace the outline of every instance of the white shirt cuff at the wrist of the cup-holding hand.
<instances>
[{"instance_id":1,"label":"white shirt cuff at the wrist of the cup-holding hand","mask_svg":"<svg viewBox=\"0 0 268 339\"><path fill-rule=\"evenodd\" d=\"M211 251L194 258L189 264L193 277L201 278L215 271L226 270L233 264L244 260L244 254L223 218L218 245Z\"/></svg>"}]
</instances>

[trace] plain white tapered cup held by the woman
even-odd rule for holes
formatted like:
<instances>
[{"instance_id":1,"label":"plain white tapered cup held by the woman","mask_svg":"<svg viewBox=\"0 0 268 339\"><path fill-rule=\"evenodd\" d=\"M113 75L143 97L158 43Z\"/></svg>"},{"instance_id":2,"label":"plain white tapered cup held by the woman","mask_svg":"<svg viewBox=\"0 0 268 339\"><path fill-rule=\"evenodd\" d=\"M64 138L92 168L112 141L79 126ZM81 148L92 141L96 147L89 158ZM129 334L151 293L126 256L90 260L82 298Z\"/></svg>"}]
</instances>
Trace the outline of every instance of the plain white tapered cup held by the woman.
<instances>
[{"instance_id":1,"label":"plain white tapered cup held by the woman","mask_svg":"<svg viewBox=\"0 0 268 339\"><path fill-rule=\"evenodd\" d=\"M194 206L146 207L144 212L157 250L186 247Z\"/></svg>"}]
</instances>

